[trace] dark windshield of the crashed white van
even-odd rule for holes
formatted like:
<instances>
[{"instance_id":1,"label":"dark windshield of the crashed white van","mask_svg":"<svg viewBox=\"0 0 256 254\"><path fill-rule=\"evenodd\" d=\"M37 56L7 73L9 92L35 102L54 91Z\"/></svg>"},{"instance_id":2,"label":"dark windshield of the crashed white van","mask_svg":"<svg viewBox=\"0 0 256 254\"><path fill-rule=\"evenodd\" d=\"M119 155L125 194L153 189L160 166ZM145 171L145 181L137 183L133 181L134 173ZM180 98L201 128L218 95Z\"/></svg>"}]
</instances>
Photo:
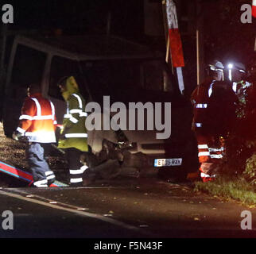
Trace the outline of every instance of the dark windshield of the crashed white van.
<instances>
[{"instance_id":1,"label":"dark windshield of the crashed white van","mask_svg":"<svg viewBox=\"0 0 256 254\"><path fill-rule=\"evenodd\" d=\"M81 62L91 94L127 96L140 93L176 94L176 84L161 60L106 60Z\"/></svg>"}]
</instances>

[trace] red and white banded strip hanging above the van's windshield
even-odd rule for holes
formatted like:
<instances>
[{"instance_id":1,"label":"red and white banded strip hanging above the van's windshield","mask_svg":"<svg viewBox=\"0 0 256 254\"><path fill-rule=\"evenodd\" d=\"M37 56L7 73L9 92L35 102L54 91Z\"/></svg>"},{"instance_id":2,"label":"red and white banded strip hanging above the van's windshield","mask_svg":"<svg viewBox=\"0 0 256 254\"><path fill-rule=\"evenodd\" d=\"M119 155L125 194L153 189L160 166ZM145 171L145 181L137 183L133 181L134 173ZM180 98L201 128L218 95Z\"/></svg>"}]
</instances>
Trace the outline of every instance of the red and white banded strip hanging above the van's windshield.
<instances>
[{"instance_id":1,"label":"red and white banded strip hanging above the van's windshield","mask_svg":"<svg viewBox=\"0 0 256 254\"><path fill-rule=\"evenodd\" d=\"M170 54L172 57L173 67L176 67L178 83L180 91L182 92L184 90L184 79L182 74L182 67L184 67L184 56L180 39L178 19L176 15L176 5L173 0L166 0L166 13L169 28Z\"/></svg>"}]
</instances>

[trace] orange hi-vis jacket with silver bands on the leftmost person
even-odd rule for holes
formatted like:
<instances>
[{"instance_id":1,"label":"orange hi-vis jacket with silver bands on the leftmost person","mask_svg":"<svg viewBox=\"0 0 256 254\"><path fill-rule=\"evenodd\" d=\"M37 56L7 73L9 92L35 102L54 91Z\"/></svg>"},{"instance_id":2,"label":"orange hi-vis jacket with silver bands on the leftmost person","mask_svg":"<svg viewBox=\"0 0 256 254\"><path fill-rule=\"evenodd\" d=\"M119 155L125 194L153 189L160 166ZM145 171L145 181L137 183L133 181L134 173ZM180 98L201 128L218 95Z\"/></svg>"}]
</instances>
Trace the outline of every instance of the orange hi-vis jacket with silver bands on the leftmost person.
<instances>
[{"instance_id":1,"label":"orange hi-vis jacket with silver bands on the leftmost person","mask_svg":"<svg viewBox=\"0 0 256 254\"><path fill-rule=\"evenodd\" d=\"M41 94L25 98L19 117L17 131L27 137L29 142L55 143L56 115L51 101Z\"/></svg>"}]
</instances>

